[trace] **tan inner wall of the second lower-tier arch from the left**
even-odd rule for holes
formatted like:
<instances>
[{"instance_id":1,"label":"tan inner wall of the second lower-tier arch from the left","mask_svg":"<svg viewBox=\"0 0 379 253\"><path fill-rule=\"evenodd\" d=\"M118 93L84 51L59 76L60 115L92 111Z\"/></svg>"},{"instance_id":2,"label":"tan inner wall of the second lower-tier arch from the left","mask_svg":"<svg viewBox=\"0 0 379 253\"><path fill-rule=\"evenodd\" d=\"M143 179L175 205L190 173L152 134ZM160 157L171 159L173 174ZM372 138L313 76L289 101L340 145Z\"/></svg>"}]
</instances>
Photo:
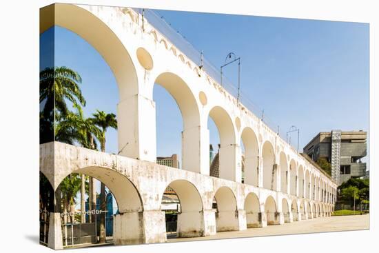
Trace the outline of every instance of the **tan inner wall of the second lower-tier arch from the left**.
<instances>
[{"instance_id":1,"label":"tan inner wall of the second lower-tier arch from the left","mask_svg":"<svg viewBox=\"0 0 379 253\"><path fill-rule=\"evenodd\" d=\"M175 192L180 205L177 214L176 236L204 236L203 199L196 186L183 179L172 181L167 186L168 189ZM161 194L162 196L163 194ZM167 194L167 196L169 195Z\"/></svg>"}]
</instances>

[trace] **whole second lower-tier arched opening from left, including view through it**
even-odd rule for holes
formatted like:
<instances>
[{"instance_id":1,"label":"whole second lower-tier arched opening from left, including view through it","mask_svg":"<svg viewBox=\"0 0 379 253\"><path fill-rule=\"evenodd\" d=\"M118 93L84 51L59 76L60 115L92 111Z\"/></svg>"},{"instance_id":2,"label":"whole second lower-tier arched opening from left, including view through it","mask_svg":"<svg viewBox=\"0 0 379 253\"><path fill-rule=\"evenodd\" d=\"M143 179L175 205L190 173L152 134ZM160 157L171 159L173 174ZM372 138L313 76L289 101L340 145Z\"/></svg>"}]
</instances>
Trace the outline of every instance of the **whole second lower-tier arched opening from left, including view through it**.
<instances>
[{"instance_id":1,"label":"whole second lower-tier arched opening from left, including view through it","mask_svg":"<svg viewBox=\"0 0 379 253\"><path fill-rule=\"evenodd\" d=\"M204 234L203 201L196 187L185 180L172 181L162 196L167 238Z\"/></svg>"}]
</instances>

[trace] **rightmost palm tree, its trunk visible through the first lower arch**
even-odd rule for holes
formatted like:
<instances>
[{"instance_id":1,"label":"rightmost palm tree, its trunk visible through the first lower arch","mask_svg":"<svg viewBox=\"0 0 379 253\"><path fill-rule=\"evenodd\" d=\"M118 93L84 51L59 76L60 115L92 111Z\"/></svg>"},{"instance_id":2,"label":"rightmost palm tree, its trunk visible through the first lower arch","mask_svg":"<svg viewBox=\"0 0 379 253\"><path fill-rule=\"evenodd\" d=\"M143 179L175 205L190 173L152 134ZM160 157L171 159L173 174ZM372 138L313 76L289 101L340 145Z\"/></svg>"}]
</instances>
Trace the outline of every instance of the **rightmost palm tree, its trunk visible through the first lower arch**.
<instances>
[{"instance_id":1,"label":"rightmost palm tree, its trunk visible through the first lower arch","mask_svg":"<svg viewBox=\"0 0 379 253\"><path fill-rule=\"evenodd\" d=\"M92 114L92 123L97 125L101 132L97 136L97 139L100 142L101 152L105 152L105 132L107 128L117 129L117 120L116 115L113 113L107 114L104 111L96 110L96 113ZM101 210L105 211L105 185L101 182L101 191L100 191L100 207ZM105 243L105 212L100 214L100 241L99 243Z\"/></svg>"}]
</instances>

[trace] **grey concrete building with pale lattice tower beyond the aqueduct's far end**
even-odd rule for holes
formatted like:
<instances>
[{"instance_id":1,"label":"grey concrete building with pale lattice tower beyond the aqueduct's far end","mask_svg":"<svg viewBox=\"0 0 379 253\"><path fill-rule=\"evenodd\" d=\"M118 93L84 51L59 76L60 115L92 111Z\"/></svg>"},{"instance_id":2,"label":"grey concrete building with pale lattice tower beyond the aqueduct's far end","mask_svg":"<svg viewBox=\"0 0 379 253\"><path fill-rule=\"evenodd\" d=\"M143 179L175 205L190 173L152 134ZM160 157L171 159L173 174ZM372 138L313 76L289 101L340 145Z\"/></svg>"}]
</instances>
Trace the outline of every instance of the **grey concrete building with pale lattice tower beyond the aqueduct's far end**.
<instances>
[{"instance_id":1,"label":"grey concrete building with pale lattice tower beyond the aqueduct's far end","mask_svg":"<svg viewBox=\"0 0 379 253\"><path fill-rule=\"evenodd\" d=\"M325 158L331 163L331 176L340 185L351 177L366 175L367 132L320 132L305 145L303 152L313 161Z\"/></svg>"}]
</instances>

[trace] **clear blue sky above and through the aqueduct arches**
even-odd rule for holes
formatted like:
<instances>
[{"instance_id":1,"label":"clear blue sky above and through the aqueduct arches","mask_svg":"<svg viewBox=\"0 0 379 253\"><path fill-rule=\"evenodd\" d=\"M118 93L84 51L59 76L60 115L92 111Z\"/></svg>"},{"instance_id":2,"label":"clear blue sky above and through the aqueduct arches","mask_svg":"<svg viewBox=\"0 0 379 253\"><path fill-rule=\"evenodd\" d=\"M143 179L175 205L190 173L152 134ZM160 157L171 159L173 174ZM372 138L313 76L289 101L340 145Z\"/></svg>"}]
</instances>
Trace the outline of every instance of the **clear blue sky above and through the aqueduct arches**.
<instances>
[{"instance_id":1,"label":"clear blue sky above and through the aqueduct arches","mask_svg":"<svg viewBox=\"0 0 379 253\"><path fill-rule=\"evenodd\" d=\"M281 19L196 12L156 11L171 23L216 69L227 53L241 57L241 90L285 132L300 128L300 151L314 135L331 129L369 128L369 25L336 21ZM109 66L94 48L63 28L41 35L41 68L55 32L55 65L81 74L85 115L96 109L116 113L118 90ZM50 42L49 42L50 41ZM45 64L45 65L43 65ZM236 68L225 73L236 83ZM181 153L182 120L163 88L154 88L157 155ZM167 117L167 115L169 115ZM210 141L218 133L209 121ZM275 129L276 130L276 129ZM106 151L116 153L115 130L107 132ZM293 134L292 143L296 143Z\"/></svg>"}]
</instances>

